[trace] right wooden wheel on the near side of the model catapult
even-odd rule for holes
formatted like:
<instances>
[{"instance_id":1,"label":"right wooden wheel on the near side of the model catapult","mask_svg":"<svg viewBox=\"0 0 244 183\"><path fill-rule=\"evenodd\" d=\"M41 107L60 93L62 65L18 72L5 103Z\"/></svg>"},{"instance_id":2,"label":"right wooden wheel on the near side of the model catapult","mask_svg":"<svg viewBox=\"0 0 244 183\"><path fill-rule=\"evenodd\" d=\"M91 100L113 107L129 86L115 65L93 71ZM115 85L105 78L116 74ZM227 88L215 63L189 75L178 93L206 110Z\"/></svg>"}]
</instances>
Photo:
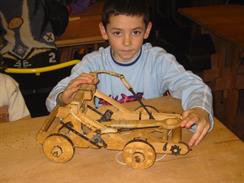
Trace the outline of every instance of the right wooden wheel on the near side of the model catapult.
<instances>
[{"instance_id":1,"label":"right wooden wheel on the near side of the model catapult","mask_svg":"<svg viewBox=\"0 0 244 183\"><path fill-rule=\"evenodd\" d=\"M123 150L125 163L135 169L149 168L155 162L156 154L153 147L143 141L128 143Z\"/></svg>"}]
</instances>

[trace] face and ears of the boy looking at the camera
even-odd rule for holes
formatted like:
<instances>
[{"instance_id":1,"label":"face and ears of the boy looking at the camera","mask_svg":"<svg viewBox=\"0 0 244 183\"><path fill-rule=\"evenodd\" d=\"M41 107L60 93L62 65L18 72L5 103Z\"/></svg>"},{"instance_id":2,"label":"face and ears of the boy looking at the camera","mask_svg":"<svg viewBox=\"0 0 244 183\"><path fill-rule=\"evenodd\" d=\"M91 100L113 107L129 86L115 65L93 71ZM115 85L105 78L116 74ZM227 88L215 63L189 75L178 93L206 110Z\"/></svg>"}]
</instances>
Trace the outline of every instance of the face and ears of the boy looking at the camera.
<instances>
[{"instance_id":1,"label":"face and ears of the boy looking at the camera","mask_svg":"<svg viewBox=\"0 0 244 183\"><path fill-rule=\"evenodd\" d=\"M143 16L111 16L105 28L99 24L101 34L108 40L116 61L127 62L140 51L143 40L148 38L152 24L146 27Z\"/></svg>"}]
</instances>

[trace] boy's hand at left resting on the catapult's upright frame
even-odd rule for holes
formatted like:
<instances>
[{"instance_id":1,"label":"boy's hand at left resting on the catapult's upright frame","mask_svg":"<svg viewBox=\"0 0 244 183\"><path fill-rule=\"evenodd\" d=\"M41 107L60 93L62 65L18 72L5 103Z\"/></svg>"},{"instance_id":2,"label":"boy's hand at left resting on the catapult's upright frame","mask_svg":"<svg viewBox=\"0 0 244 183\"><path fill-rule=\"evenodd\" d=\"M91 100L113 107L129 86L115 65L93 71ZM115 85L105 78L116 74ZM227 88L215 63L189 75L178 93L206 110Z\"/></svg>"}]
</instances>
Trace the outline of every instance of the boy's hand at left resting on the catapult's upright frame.
<instances>
[{"instance_id":1,"label":"boy's hand at left resting on the catapult's upright frame","mask_svg":"<svg viewBox=\"0 0 244 183\"><path fill-rule=\"evenodd\" d=\"M98 79L88 73L82 73L77 78L70 81L65 90L58 95L58 100L63 104L69 104L82 84L97 84Z\"/></svg>"}]
</instances>

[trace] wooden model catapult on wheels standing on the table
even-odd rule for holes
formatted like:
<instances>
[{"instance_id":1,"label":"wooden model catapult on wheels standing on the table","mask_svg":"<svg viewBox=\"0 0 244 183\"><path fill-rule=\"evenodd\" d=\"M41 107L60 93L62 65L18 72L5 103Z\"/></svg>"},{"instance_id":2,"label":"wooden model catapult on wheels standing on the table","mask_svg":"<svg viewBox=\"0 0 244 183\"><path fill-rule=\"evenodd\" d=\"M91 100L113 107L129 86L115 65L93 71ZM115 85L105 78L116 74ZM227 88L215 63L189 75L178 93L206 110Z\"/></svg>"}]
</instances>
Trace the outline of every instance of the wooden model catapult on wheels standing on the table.
<instances>
[{"instance_id":1,"label":"wooden model catapult on wheels standing on the table","mask_svg":"<svg viewBox=\"0 0 244 183\"><path fill-rule=\"evenodd\" d=\"M138 107L128 109L97 90L96 85L82 85L73 102L57 106L38 132L37 140L47 158L67 162L75 147L106 148L123 151L128 166L143 169L154 164L157 153L189 152L188 145L181 142L180 114L162 113L145 105L121 74L108 71L91 74L118 77L136 97L134 104ZM110 105L95 107L96 97Z\"/></svg>"}]
</instances>

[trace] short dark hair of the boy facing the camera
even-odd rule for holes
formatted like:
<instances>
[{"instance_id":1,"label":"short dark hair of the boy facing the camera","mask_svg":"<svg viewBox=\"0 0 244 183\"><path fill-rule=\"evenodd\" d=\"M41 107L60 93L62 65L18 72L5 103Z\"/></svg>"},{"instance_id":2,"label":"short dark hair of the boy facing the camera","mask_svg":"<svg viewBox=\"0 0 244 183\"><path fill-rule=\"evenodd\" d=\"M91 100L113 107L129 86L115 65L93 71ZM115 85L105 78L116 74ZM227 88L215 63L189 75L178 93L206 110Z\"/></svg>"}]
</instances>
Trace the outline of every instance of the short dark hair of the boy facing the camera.
<instances>
[{"instance_id":1,"label":"short dark hair of the boy facing the camera","mask_svg":"<svg viewBox=\"0 0 244 183\"><path fill-rule=\"evenodd\" d=\"M112 15L143 16L147 26L150 21L148 0L104 0L102 23L104 27L109 23Z\"/></svg>"}]
</instances>

